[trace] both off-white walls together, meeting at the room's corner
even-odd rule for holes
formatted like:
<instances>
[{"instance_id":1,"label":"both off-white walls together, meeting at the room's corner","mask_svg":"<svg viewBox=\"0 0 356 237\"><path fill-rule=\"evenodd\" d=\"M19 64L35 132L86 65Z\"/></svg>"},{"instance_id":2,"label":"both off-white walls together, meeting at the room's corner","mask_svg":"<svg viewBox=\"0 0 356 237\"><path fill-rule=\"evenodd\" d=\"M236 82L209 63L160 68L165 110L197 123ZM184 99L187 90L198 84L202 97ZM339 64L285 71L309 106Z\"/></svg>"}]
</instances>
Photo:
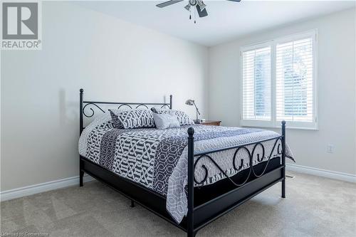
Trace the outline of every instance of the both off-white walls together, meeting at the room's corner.
<instances>
[{"instance_id":1,"label":"both off-white walls together, meeting at the room's corner","mask_svg":"<svg viewBox=\"0 0 356 237\"><path fill-rule=\"evenodd\" d=\"M79 88L88 100L162 102L172 94L174 107L192 116L184 101L195 98L203 117L239 126L240 46L311 28L319 30L320 130L287 130L288 143L297 164L356 174L355 20L355 9L343 11L208 51L75 4L43 2L42 51L1 51L1 191L78 175Z\"/></svg>"}]
</instances>

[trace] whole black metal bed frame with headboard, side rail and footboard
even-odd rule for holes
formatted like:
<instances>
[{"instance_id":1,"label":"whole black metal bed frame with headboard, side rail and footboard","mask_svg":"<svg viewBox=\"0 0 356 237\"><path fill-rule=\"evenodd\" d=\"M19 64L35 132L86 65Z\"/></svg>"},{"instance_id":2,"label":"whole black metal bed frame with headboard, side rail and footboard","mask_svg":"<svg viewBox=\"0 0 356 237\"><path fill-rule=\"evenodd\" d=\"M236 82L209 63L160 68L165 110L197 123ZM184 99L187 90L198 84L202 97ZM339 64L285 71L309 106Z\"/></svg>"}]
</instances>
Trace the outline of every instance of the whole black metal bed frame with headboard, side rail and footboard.
<instances>
[{"instance_id":1,"label":"whole black metal bed frame with headboard, side rail and footboard","mask_svg":"<svg viewBox=\"0 0 356 237\"><path fill-rule=\"evenodd\" d=\"M169 103L141 103L141 102L100 102L100 101L84 101L83 100L83 89L80 89L80 134L83 132L83 115L85 117L93 117L95 110L92 107L96 107L101 112L105 112L99 105L116 105L118 107L128 106L132 107L147 107L147 105L161 105L161 107L169 107L172 109L172 95L170 95ZM85 110L90 110L90 114L85 112ZM220 216L223 216L227 212L235 209L237 206L244 204L244 202L253 198L262 191L268 189L269 187L277 184L281 181L282 184L282 198L286 197L286 122L282 121L282 135L274 137L272 139L266 139L246 144L241 144L234 147L225 147L221 149L209 150L206 152L200 152L194 154L194 129L189 127L187 130L188 134L188 184L187 184L187 200L188 200L188 213L187 216L183 218L181 223L176 223L172 217L167 213L166 210L166 198L160 194L157 194L152 189L147 189L147 187L131 181L130 179L125 179L120 177L108 169L101 167L99 164L91 162L83 156L80 156L80 186L83 186L83 175L84 172L90 176L98 179L98 181L103 182L110 186L112 189L120 192L120 194L126 196L131 200L131 206L135 206L135 202L144 206L146 209L152 211L158 216L164 218L169 223L174 226L181 228L183 231L187 232L188 237L193 237L197 234L201 228L216 220ZM263 147L263 142L268 140L275 140L273 149L266 159L265 147ZM252 152L247 148L248 146L253 146ZM257 148L262 152L258 153ZM236 165L237 154L241 150L247 152L249 157L249 167L248 169L241 170L234 177L229 177L219 164L217 164L214 159L211 158L209 154L214 152L221 152L228 149L234 149L234 157L232 158L232 164L236 171L239 171L243 167L243 160L239 166ZM278 159L271 159L274 149L279 154ZM257 157L257 165L253 164L253 157ZM211 196L209 200L206 200L206 195L211 193L210 191L204 192L204 189L209 189L208 186L196 186L194 187L194 182L196 184L202 184L206 181L208 177L209 170L202 165L200 169L204 169L205 175L204 179L197 181L194 177L194 171L197 169L199 160L209 159L222 174L226 177L223 181L218 181L216 185L215 196ZM277 160L277 162L276 162ZM268 164L270 164L268 166ZM243 180L243 181L241 181ZM209 185L211 186L211 185ZM207 188L205 188L207 187ZM194 196L194 193L197 194ZM194 205L195 204L195 205Z\"/></svg>"}]
</instances>

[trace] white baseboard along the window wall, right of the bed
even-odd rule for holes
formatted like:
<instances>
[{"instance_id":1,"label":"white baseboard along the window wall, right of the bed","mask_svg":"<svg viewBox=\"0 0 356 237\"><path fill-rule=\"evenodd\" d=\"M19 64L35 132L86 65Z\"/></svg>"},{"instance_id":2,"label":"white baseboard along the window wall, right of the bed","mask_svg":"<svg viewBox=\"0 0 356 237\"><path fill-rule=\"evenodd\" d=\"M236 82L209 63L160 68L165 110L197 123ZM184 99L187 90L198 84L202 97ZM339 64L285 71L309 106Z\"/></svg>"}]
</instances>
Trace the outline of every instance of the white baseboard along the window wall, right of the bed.
<instances>
[{"instance_id":1,"label":"white baseboard along the window wall, right of the bed","mask_svg":"<svg viewBox=\"0 0 356 237\"><path fill-rule=\"evenodd\" d=\"M355 174L347 174L342 172L333 172L331 170L326 169L317 169L313 167L305 167L303 165L298 164L286 164L286 169L293 172L300 172L304 174L313 174L316 176L321 176L330 179L338 179L342 181L349 181L352 183L356 183L356 175Z\"/></svg>"}]
</instances>

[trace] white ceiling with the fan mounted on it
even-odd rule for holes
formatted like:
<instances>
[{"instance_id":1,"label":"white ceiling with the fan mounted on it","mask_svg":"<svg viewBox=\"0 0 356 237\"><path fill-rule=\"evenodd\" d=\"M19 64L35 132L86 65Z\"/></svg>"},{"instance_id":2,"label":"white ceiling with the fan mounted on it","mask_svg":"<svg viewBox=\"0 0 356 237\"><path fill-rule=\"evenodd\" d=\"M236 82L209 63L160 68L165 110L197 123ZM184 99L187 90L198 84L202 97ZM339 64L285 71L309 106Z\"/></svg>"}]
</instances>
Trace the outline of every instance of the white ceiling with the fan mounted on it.
<instances>
[{"instance_id":1,"label":"white ceiling with the fan mounted on it","mask_svg":"<svg viewBox=\"0 0 356 237\"><path fill-rule=\"evenodd\" d=\"M295 21L314 18L355 7L354 1L209 1L209 16L194 24L194 14L184 9L187 0L163 9L162 1L80 1L80 6L146 26L204 46L231 41L248 33L263 31Z\"/></svg>"}]
</instances>

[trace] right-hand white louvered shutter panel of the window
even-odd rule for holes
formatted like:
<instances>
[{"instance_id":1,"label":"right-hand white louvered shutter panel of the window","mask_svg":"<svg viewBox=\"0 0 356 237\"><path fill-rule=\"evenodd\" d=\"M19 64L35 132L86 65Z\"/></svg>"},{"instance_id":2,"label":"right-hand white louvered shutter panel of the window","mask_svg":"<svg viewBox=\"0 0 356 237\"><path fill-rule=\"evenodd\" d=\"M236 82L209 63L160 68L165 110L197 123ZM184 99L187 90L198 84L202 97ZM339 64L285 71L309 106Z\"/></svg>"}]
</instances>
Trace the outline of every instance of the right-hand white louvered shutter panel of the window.
<instances>
[{"instance_id":1,"label":"right-hand white louvered shutter panel of the window","mask_svg":"<svg viewBox=\"0 0 356 237\"><path fill-rule=\"evenodd\" d=\"M276 44L276 120L314 122L313 37Z\"/></svg>"}]
</instances>

